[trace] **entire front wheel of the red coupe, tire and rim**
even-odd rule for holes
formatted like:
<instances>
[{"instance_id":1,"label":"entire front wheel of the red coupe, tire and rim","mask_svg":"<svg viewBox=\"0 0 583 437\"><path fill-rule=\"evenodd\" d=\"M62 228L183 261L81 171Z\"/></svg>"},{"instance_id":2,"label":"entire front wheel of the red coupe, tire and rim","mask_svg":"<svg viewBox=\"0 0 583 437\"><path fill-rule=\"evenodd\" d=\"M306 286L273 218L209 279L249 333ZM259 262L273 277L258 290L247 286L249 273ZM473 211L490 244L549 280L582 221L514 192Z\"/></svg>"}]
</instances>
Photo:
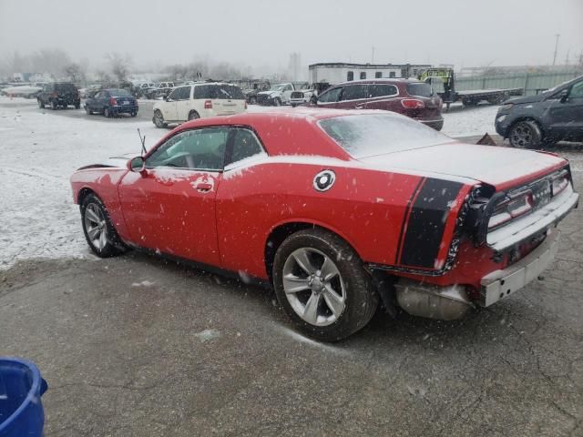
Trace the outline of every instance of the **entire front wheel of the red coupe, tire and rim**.
<instances>
[{"instance_id":1,"label":"entire front wheel of the red coupe, tire and rim","mask_svg":"<svg viewBox=\"0 0 583 437\"><path fill-rule=\"evenodd\" d=\"M107 208L95 194L81 202L81 223L89 249L99 258L109 258L125 249L118 232L109 219Z\"/></svg>"}]
</instances>

